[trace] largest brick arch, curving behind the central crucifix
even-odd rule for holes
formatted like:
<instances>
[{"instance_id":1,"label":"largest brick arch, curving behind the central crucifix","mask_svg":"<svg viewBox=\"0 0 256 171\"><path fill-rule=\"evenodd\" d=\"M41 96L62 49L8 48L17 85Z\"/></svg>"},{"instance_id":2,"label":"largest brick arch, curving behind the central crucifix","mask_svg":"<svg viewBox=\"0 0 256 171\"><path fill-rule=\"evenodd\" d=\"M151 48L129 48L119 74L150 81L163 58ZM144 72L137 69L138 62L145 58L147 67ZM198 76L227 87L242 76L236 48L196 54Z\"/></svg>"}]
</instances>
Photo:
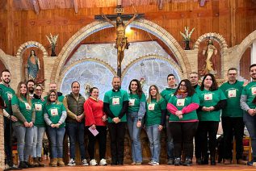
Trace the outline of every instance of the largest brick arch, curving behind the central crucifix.
<instances>
[{"instance_id":1,"label":"largest brick arch, curving behind the central crucifix","mask_svg":"<svg viewBox=\"0 0 256 171\"><path fill-rule=\"evenodd\" d=\"M172 50L172 52L174 52L174 55L178 60L178 66L182 71L183 75L185 76L186 73L191 72L191 66L189 64L189 60L187 59L187 54L178 44L177 40L175 40L168 31L158 26L156 23L153 23L146 19L138 19L136 21L133 21L130 25L131 27L136 27L144 31L149 31L153 35L156 35L168 46L168 48ZM94 32L103 30L108 27L112 27L112 25L105 21L95 21L86 25L85 27L82 27L81 30L74 34L61 49L59 56L57 56L54 68L52 70L51 81L59 81L58 76L61 75L61 69L63 69L63 66L65 65L65 60L82 40L84 40L87 36L93 34Z\"/></svg>"}]
</instances>

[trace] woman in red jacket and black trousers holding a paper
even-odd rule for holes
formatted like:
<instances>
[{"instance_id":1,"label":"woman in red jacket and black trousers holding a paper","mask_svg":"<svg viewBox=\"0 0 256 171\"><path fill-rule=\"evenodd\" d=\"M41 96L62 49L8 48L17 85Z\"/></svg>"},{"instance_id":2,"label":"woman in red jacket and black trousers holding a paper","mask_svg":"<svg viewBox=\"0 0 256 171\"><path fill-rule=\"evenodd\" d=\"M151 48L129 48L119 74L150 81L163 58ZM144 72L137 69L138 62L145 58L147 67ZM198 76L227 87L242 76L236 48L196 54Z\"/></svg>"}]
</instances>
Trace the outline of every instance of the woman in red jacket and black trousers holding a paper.
<instances>
[{"instance_id":1,"label":"woman in red jacket and black trousers holding a paper","mask_svg":"<svg viewBox=\"0 0 256 171\"><path fill-rule=\"evenodd\" d=\"M86 115L86 128L89 131L88 152L90 156L90 165L98 165L94 157L94 144L99 140L99 165L107 165L105 160L106 154L106 139L107 139L107 116L103 113L103 101L99 100L99 90L97 87L90 88L90 97L84 103L84 111ZM99 131L99 134L94 136L93 131Z\"/></svg>"}]
</instances>

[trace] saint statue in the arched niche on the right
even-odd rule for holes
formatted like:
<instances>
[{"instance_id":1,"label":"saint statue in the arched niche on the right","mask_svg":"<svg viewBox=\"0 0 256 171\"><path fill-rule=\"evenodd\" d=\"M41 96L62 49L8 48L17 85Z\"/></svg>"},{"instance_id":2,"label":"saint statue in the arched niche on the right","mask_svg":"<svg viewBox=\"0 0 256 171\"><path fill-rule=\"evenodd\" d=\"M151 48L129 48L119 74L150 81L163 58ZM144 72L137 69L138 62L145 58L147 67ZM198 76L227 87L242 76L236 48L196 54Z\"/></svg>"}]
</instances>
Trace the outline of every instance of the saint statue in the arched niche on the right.
<instances>
[{"instance_id":1,"label":"saint statue in the arched niche on the right","mask_svg":"<svg viewBox=\"0 0 256 171\"><path fill-rule=\"evenodd\" d=\"M216 55L217 54L217 49L212 43L212 40L208 40L208 45L207 47L204 48L203 55L207 56L206 58L206 65L205 65L205 72L206 73L212 73L216 74L216 71L212 69L212 61L211 58L213 56L213 53Z\"/></svg>"}]
</instances>

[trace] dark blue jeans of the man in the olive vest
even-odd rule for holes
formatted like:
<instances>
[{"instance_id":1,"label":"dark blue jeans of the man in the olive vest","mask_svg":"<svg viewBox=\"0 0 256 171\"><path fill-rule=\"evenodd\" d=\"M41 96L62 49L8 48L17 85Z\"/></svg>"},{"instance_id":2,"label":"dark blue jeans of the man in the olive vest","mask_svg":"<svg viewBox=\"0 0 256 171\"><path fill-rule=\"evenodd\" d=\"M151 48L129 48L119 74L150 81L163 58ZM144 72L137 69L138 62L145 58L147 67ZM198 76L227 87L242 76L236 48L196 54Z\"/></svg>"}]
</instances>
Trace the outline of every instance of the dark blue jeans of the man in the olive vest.
<instances>
[{"instance_id":1,"label":"dark blue jeans of the man in the olive vest","mask_svg":"<svg viewBox=\"0 0 256 171\"><path fill-rule=\"evenodd\" d=\"M69 136L70 158L75 159L76 141L78 140L81 159L86 158L85 149L85 123L66 123L67 134Z\"/></svg>"}]
</instances>

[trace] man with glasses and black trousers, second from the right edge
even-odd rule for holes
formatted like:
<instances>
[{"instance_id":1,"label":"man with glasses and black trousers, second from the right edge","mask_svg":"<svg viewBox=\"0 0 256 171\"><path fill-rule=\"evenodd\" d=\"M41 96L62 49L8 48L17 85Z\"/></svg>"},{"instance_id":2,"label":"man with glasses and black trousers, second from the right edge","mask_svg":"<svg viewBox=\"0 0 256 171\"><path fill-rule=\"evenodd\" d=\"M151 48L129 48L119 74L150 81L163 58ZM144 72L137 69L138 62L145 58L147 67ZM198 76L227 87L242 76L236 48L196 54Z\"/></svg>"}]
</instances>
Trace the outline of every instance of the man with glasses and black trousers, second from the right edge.
<instances>
[{"instance_id":1,"label":"man with glasses and black trousers, second from the right edge","mask_svg":"<svg viewBox=\"0 0 256 171\"><path fill-rule=\"evenodd\" d=\"M240 106L241 91L243 90L243 81L237 81L237 69L230 68L227 73L228 81L220 86L227 100L227 106L222 110L221 122L224 137L224 164L230 165L232 159L232 141L233 135L236 140L237 164L246 165L243 161L243 135L245 124L243 122L243 111Z\"/></svg>"}]
</instances>

